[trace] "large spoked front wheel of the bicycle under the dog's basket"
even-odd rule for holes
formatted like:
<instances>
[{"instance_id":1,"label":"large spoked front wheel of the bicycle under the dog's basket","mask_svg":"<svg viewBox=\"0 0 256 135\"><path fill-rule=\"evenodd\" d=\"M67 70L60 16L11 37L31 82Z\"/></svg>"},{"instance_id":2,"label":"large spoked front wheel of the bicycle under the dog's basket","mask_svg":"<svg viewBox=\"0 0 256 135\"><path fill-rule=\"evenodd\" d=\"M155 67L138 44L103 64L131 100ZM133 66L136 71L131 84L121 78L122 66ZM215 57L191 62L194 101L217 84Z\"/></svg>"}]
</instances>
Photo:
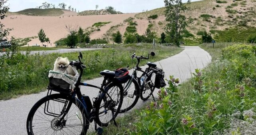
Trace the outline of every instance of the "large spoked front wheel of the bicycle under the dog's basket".
<instances>
[{"instance_id":1,"label":"large spoked front wheel of the bicycle under the dog's basket","mask_svg":"<svg viewBox=\"0 0 256 135\"><path fill-rule=\"evenodd\" d=\"M64 120L59 122L67 107ZM70 95L53 94L35 103L28 114L28 135L86 135L89 115L81 101Z\"/></svg>"}]
</instances>

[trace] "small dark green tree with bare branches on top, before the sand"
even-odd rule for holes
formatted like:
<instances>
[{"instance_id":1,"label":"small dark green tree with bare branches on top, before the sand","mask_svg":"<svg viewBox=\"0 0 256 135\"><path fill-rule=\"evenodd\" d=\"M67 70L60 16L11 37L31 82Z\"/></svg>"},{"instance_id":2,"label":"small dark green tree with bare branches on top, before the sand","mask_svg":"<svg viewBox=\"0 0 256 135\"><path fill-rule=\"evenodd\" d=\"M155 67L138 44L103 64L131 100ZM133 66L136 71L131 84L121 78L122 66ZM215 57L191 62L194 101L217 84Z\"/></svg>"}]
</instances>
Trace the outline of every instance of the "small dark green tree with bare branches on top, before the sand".
<instances>
[{"instance_id":1,"label":"small dark green tree with bare branches on top, before the sand","mask_svg":"<svg viewBox=\"0 0 256 135\"><path fill-rule=\"evenodd\" d=\"M67 44L67 46L74 48L75 45L78 43L77 26L73 27L72 25L66 25L66 29L69 34L67 36L67 39L65 40L65 43Z\"/></svg>"}]
</instances>

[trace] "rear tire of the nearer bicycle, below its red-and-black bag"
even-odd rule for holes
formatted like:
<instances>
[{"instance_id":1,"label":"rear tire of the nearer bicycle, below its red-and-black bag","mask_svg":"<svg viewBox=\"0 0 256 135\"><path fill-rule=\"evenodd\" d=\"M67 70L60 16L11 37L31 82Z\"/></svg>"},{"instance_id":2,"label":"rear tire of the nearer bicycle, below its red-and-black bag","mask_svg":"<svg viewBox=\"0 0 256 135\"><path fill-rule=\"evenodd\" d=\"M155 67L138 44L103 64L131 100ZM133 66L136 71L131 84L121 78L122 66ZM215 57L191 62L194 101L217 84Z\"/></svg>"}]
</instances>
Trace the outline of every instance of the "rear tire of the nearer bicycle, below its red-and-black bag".
<instances>
[{"instance_id":1,"label":"rear tire of the nearer bicycle, below its red-and-black bag","mask_svg":"<svg viewBox=\"0 0 256 135\"><path fill-rule=\"evenodd\" d=\"M113 93L112 93L112 89L111 88L113 88L113 87L118 87L119 88L119 91L117 91L117 95L118 95L118 93L120 94L120 97L117 97L117 100L115 100L116 98L113 98L112 97L112 95L113 95ZM114 88L113 88L114 89ZM108 123L110 123L112 120L113 120L113 118L116 118L116 116L118 115L118 113L119 113L119 110L120 110L120 108L121 108L121 106L122 106L122 102L123 102L123 98L124 98L124 91L123 91L123 87L122 87L122 85L121 84L117 84L117 83L110 83L110 84L108 84L105 88L104 88L104 91L106 91L107 93L108 93L108 95L110 95L111 96L111 98L114 100L114 101L116 101L116 102L118 102L118 107L116 108L116 110L113 108L113 107L111 107L111 105L112 105L112 101L110 100L110 98L108 98L108 95L106 95L106 93L104 93L104 92L102 92L101 94L100 94L100 96L99 96L99 98L98 98L98 101L96 102L96 104L95 104L95 121L96 121L96 123L99 125L99 126L101 126L101 127L106 127L106 126L108 126ZM119 99L119 100L118 100ZM101 104L101 102L103 101L103 104ZM111 104L110 104L111 103ZM109 107L110 106L110 107ZM110 109L109 109L109 108ZM116 106L115 106L116 107ZM103 108L103 110L102 111L100 111L100 109L101 108ZM108 109L110 110L110 116L112 117L112 118L110 118L110 120L107 120L106 122L103 122L103 120L100 120L101 118L101 114L103 114L104 115L104 113L106 114L106 112L108 111ZM112 113L114 113L114 117L112 116ZM102 115L102 116L103 116ZM105 115L106 116L106 115ZM108 116L109 116L109 114L108 114Z\"/></svg>"}]
</instances>

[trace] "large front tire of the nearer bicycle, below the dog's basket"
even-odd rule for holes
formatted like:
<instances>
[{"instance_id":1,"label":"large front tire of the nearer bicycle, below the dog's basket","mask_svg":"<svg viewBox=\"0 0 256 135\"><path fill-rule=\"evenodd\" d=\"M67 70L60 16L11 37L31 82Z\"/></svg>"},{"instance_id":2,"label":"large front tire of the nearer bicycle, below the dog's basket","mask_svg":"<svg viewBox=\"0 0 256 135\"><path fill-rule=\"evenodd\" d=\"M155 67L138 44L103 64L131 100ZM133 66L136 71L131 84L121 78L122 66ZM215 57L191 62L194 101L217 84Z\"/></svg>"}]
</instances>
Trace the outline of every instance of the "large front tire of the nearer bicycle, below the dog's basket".
<instances>
[{"instance_id":1,"label":"large front tire of the nearer bicycle, below the dog's basket","mask_svg":"<svg viewBox=\"0 0 256 135\"><path fill-rule=\"evenodd\" d=\"M27 132L28 132L28 135L35 135L35 133L33 132L33 129L35 130L36 128L35 128L35 125L32 125L33 124L33 120L35 120L35 121L37 121L36 119L33 119L35 116L37 116L37 114L35 114L36 112L37 112L37 110L39 111L39 108L41 107L42 108L42 106L41 105L43 105L43 104L47 104L47 102L49 103L51 100L53 101L53 103L54 103L54 100L57 100L57 99L64 99L64 100L67 100L68 102L72 102L72 104L71 104L71 107L72 107L72 109L74 110L74 108L75 108L75 106L77 106L77 108L78 108L78 110L77 111L80 111L81 112L81 115L80 114L77 114L78 112L76 112L75 114L75 116L69 116L69 113L67 114L67 117L69 116L69 118L72 118L73 119L73 117L77 117L78 119L75 119L75 120L78 120L79 121L79 123L81 122L82 124L81 124L81 133L80 133L80 131L78 131L79 129L76 129L76 131L78 131L78 133L77 134L79 134L80 133L80 135L86 135L86 133L87 133L87 130L88 130L88 128L89 128L89 125L90 125L90 123L89 123L89 115L88 115L88 113L87 113L87 110L84 108L84 106L83 106L83 104L82 104L82 102L80 101L80 100L78 100L77 98L71 98L71 95L64 95L64 94L53 94L53 95L49 95L49 96L45 96L45 97L43 97L43 98L41 98L39 101L37 101L35 104L34 104L34 106L32 107L32 109L30 110L30 112L29 112L29 114L28 114L28 118L27 118L27 124L26 124L26 127L27 127ZM73 106L74 106L74 108L73 108ZM44 106L44 105L43 105ZM50 105L51 106L51 105ZM53 106L54 106L54 104L53 104ZM60 106L59 106L60 107ZM53 107L54 109L55 109L55 107ZM51 109L52 109L52 107L51 107ZM71 110L71 108L70 108L70 110ZM71 113L73 110L71 110L70 111L69 110L69 112ZM40 112L40 111L39 111ZM40 112L41 113L41 112ZM44 112L43 112L44 113ZM41 113L42 115L43 115L43 113ZM46 115L46 114L45 114ZM78 115L80 115L81 116L81 118L83 117L83 120L81 120L81 118L79 118L79 116ZM48 117L53 117L53 116L49 116L49 115L46 115L46 116L48 116ZM40 116L38 116L39 118L42 118L42 119L45 119L45 118L47 118L46 116L43 116L43 117L40 117ZM53 120L50 122L50 125L51 125L51 128L49 128L49 130L50 129L53 129L53 133L55 134L55 131L56 131L56 129L54 128L54 124L52 124L52 123L56 123L56 120L57 119L57 117L53 117ZM68 118L67 118L68 119ZM73 120L71 119L71 120L69 120L69 121L67 121L67 119L66 119L66 122L65 122L65 126L67 126L66 124L67 123L70 123L70 122L73 122ZM43 121L50 121L51 119L45 119L45 120L43 120ZM46 123L46 122L44 122L44 123ZM34 123L34 124L38 124L38 123ZM72 123L70 123L70 124L72 124ZM49 125L48 125L49 126ZM55 125L56 126L56 125ZM74 127L75 126L73 126L73 124L70 126L71 128L73 128L73 129L75 129ZM43 128L45 128L45 127L43 127ZM69 131L68 130L64 130L64 128L67 128L67 127L63 127L62 129L63 129L63 132L61 132L61 130L62 129L60 129L59 131L61 132L61 133L66 133L66 134L71 134L70 133L70 129L69 129ZM68 128L67 128L68 129ZM48 130L48 129L47 129ZM48 131L49 132L49 131ZM48 134L48 132L46 133L46 134ZM67 133L68 132L68 133ZM72 131L71 131L72 132ZM37 132L37 133L39 133L39 132ZM73 132L72 132L73 133ZM41 133L40 133L41 134ZM50 133L51 134L51 133ZM56 131L56 134L57 134L57 131ZM73 133L73 134L75 134L75 133Z\"/></svg>"}]
</instances>

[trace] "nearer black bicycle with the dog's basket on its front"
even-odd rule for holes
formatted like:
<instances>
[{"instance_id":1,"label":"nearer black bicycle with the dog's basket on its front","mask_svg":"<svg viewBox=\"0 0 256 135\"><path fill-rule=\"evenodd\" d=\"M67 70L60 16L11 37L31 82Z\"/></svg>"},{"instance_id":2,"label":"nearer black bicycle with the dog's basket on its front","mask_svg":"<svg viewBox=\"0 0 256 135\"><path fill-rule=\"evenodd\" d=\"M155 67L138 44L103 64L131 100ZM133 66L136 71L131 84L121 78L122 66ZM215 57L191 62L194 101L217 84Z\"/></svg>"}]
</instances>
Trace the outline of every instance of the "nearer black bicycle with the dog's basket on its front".
<instances>
[{"instance_id":1,"label":"nearer black bicycle with the dog's basket on its front","mask_svg":"<svg viewBox=\"0 0 256 135\"><path fill-rule=\"evenodd\" d=\"M90 123L95 122L95 130L101 134L100 126L107 126L114 121L123 101L123 87L114 82L113 72L101 71L104 76L101 87L81 82L83 55L79 52L79 61L72 61L69 65L80 70L78 81L73 91L56 89L48 85L47 96L40 99L32 107L26 123L28 135L34 134L80 134L85 135ZM51 82L50 78L50 82ZM80 86L99 89L98 96L93 98L81 94ZM52 91L59 92L52 94ZM77 96L77 98L75 97Z\"/></svg>"}]
</instances>

